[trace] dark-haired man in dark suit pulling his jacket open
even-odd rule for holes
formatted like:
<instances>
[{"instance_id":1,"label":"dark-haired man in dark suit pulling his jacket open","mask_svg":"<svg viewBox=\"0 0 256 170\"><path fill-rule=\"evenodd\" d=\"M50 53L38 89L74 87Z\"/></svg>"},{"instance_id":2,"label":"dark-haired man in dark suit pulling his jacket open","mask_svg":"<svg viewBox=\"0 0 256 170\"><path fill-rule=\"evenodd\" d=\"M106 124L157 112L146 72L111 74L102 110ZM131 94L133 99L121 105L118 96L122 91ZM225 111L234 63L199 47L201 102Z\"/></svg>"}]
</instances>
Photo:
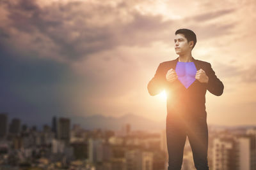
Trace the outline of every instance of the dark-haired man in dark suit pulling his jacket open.
<instances>
[{"instance_id":1,"label":"dark-haired man in dark suit pulling his jacket open","mask_svg":"<svg viewBox=\"0 0 256 170\"><path fill-rule=\"evenodd\" d=\"M178 29L174 43L179 57L161 62L147 87L151 96L163 90L167 94L168 170L181 169L186 136L196 169L209 169L205 93L208 90L215 96L221 96L224 86L209 62L192 57L191 51L196 45L196 34L193 31Z\"/></svg>"}]
</instances>

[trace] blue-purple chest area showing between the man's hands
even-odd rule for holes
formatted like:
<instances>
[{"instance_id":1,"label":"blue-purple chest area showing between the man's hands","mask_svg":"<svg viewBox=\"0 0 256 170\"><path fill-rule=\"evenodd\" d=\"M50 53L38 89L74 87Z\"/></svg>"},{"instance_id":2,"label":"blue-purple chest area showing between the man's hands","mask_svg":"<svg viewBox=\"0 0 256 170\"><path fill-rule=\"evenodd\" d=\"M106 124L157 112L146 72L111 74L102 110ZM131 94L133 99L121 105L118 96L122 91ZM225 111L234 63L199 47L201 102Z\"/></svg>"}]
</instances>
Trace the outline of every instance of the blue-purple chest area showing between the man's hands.
<instances>
[{"instance_id":1,"label":"blue-purple chest area showing between the man's hands","mask_svg":"<svg viewBox=\"0 0 256 170\"><path fill-rule=\"evenodd\" d=\"M186 89L196 80L196 66L194 62L177 62L175 71L179 81Z\"/></svg>"}]
</instances>

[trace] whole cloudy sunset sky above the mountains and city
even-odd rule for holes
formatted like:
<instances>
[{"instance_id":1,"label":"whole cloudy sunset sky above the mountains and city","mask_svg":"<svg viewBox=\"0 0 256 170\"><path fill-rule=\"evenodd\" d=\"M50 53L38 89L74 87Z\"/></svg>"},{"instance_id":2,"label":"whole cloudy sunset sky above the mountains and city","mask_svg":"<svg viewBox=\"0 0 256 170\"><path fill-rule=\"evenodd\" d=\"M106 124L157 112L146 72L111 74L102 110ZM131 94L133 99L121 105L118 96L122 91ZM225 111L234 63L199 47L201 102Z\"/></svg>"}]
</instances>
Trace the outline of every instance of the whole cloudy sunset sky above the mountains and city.
<instances>
[{"instance_id":1,"label":"whole cloudy sunset sky above the mountains and city","mask_svg":"<svg viewBox=\"0 0 256 170\"><path fill-rule=\"evenodd\" d=\"M253 0L0 1L0 112L51 117L166 118L148 81L178 57L175 31L191 29L192 56L210 62L222 96L207 92L208 124L256 124Z\"/></svg>"}]
</instances>

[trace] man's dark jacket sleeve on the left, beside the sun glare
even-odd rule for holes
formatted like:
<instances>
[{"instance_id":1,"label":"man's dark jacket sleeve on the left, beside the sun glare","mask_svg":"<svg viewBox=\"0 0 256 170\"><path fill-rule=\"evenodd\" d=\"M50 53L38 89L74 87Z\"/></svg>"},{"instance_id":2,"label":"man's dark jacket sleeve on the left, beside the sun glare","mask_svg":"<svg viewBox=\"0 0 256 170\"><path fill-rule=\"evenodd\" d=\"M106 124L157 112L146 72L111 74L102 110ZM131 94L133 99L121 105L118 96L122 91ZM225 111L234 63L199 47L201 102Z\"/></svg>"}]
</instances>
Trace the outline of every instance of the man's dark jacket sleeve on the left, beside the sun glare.
<instances>
[{"instance_id":1,"label":"man's dark jacket sleeve on the left, beside the sun glare","mask_svg":"<svg viewBox=\"0 0 256 170\"><path fill-rule=\"evenodd\" d=\"M163 72L163 65L159 64L156 70L156 74L148 83L148 93L150 96L156 96L166 87L166 78Z\"/></svg>"}]
</instances>

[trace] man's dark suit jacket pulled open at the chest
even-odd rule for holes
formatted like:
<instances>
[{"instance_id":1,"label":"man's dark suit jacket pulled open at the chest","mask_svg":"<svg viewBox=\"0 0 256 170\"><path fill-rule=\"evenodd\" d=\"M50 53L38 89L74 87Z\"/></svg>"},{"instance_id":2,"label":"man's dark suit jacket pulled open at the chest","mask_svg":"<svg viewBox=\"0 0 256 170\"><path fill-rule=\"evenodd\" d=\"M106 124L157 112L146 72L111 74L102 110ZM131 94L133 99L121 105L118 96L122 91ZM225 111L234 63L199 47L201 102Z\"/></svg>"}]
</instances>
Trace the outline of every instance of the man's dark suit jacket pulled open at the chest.
<instances>
[{"instance_id":1,"label":"man's dark suit jacket pulled open at the chest","mask_svg":"<svg viewBox=\"0 0 256 170\"><path fill-rule=\"evenodd\" d=\"M223 83L217 78L215 72L212 70L209 62L202 60L196 60L192 57L195 63L196 70L203 69L209 77L208 83L201 83L195 80L186 89L179 80L175 80L172 83L166 80L166 73L169 69L174 69L179 57L175 60L161 62L157 67L156 74L148 83L148 92L151 96L159 94L159 92L165 90L167 94L167 112L176 113L182 112L185 114L193 115L206 115L205 111L205 93L206 90L214 94L215 96L221 96L223 93Z\"/></svg>"}]
</instances>

